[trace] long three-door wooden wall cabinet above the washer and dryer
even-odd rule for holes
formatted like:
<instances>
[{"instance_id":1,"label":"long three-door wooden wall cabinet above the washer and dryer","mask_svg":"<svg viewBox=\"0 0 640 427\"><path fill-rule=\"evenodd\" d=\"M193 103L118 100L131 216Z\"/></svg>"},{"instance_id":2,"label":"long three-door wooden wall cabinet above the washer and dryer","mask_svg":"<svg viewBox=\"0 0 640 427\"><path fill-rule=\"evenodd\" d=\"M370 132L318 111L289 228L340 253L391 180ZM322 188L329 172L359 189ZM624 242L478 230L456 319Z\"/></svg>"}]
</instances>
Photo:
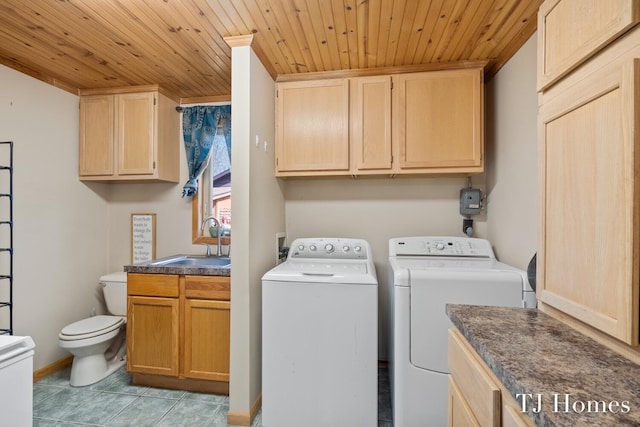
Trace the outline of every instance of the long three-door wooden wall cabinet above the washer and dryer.
<instances>
[{"instance_id":1,"label":"long three-door wooden wall cabinet above the washer and dryer","mask_svg":"<svg viewBox=\"0 0 640 427\"><path fill-rule=\"evenodd\" d=\"M482 68L280 82L276 175L479 173Z\"/></svg>"}]
</instances>

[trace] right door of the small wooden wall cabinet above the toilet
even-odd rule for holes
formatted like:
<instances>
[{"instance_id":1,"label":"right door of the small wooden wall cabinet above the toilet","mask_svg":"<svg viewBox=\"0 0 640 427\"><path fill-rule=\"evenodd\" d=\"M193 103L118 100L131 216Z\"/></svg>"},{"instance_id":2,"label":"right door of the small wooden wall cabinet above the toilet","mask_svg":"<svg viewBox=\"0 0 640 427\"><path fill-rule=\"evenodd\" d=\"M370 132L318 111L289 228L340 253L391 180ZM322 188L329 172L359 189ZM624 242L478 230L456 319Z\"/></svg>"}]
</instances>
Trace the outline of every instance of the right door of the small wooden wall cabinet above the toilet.
<instances>
[{"instance_id":1,"label":"right door of the small wooden wall cabinet above the toilet","mask_svg":"<svg viewBox=\"0 0 640 427\"><path fill-rule=\"evenodd\" d=\"M117 175L151 175L154 172L155 93L127 93L117 97Z\"/></svg>"}]
</instances>

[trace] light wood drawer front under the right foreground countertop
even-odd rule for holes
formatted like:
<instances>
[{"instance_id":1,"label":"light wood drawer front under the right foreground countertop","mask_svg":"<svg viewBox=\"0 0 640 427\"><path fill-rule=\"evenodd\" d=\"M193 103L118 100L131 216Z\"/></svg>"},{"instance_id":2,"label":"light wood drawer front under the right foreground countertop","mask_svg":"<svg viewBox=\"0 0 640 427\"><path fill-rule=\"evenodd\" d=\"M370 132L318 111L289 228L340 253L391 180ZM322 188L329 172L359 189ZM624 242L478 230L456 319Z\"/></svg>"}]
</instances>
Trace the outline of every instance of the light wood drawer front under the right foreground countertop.
<instances>
[{"instance_id":1,"label":"light wood drawer front under the right foreground countertop","mask_svg":"<svg viewBox=\"0 0 640 427\"><path fill-rule=\"evenodd\" d=\"M457 330L449 330L449 370L477 422L500 426L500 388Z\"/></svg>"}]
</instances>

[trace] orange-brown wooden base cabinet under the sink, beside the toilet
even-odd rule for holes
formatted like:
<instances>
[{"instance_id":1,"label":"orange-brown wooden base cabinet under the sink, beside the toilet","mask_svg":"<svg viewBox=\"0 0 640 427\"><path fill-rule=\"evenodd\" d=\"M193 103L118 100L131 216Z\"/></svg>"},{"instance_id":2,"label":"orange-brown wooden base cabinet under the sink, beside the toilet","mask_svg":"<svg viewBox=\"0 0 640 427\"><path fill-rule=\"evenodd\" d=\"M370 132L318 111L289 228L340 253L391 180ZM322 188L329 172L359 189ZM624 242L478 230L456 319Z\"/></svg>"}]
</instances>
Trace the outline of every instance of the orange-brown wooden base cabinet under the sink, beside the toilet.
<instances>
[{"instance_id":1,"label":"orange-brown wooden base cabinet under the sink, beside the toilet","mask_svg":"<svg viewBox=\"0 0 640 427\"><path fill-rule=\"evenodd\" d=\"M224 392L206 382L228 387L230 278L129 273L127 295L134 383Z\"/></svg>"}]
</instances>

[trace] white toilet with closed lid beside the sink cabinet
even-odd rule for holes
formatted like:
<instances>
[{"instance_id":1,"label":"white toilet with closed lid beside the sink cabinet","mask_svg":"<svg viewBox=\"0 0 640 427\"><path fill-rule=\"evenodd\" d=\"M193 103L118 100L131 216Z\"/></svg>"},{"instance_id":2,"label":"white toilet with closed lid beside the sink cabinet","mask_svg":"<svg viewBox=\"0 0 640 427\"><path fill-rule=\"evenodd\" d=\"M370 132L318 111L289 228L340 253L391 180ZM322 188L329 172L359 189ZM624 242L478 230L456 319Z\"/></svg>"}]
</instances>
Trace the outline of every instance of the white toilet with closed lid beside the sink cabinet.
<instances>
[{"instance_id":1,"label":"white toilet with closed lid beside the sink cabinet","mask_svg":"<svg viewBox=\"0 0 640 427\"><path fill-rule=\"evenodd\" d=\"M74 387L96 383L126 363L127 273L100 277L110 316L100 315L65 326L58 345L73 354Z\"/></svg>"}]
</instances>

